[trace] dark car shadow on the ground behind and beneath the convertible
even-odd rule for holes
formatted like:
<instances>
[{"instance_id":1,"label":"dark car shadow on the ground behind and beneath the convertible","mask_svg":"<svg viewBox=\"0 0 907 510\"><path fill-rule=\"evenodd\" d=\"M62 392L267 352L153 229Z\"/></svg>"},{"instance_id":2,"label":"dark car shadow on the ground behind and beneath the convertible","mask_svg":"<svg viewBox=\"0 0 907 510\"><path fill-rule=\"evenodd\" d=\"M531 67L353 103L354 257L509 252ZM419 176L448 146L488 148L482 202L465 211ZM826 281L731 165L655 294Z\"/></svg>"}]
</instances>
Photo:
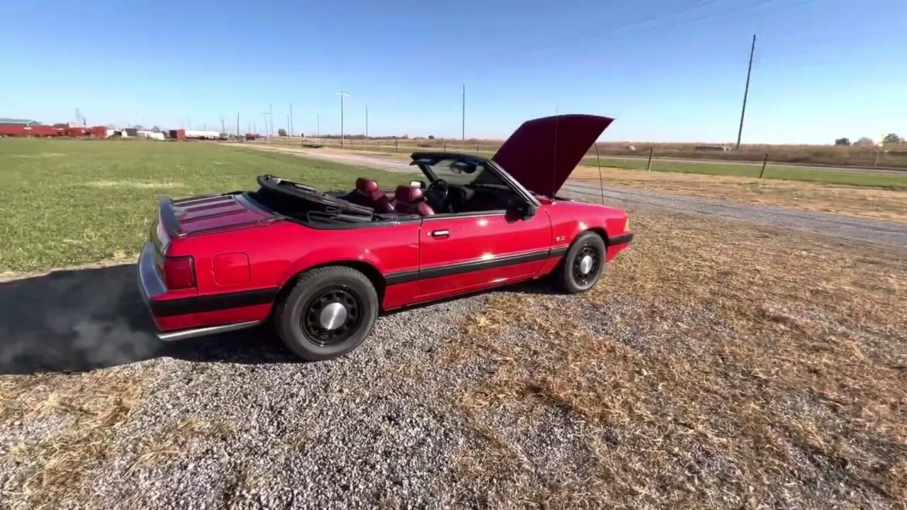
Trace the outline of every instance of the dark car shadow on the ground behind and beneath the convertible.
<instances>
[{"instance_id":1,"label":"dark car shadow on the ground behind and beneath the convertible","mask_svg":"<svg viewBox=\"0 0 907 510\"><path fill-rule=\"evenodd\" d=\"M550 292L539 284L518 284L508 290ZM414 308L419 307L408 309ZM398 311L405 310L391 313ZM0 374L82 372L158 357L298 362L267 327L172 343L162 342L155 331L141 300L134 264L0 282Z\"/></svg>"}]
</instances>

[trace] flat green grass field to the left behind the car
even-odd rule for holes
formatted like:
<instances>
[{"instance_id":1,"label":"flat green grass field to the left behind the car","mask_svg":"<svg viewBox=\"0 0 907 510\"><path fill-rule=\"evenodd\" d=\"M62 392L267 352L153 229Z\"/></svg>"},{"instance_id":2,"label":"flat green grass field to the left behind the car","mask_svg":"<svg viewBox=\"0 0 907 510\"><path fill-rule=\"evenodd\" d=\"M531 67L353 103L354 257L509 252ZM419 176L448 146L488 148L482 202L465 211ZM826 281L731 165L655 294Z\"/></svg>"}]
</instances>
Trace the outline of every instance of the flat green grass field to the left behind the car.
<instances>
[{"instance_id":1,"label":"flat green grass field to the left behind the car","mask_svg":"<svg viewBox=\"0 0 907 510\"><path fill-rule=\"evenodd\" d=\"M163 196L252 190L273 173L319 190L409 176L199 142L0 141L0 272L130 258Z\"/></svg>"}]
</instances>

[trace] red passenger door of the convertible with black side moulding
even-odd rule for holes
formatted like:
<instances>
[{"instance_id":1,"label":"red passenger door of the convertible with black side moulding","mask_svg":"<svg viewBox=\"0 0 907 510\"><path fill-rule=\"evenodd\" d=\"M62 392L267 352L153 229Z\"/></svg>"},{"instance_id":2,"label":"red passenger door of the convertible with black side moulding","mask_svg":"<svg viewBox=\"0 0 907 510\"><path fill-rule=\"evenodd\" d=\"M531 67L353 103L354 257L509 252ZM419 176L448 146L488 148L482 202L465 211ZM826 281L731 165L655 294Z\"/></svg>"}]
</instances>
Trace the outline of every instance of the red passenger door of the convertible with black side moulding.
<instances>
[{"instance_id":1,"label":"red passenger door of the convertible with black side moulding","mask_svg":"<svg viewBox=\"0 0 907 510\"><path fill-rule=\"evenodd\" d=\"M423 218L419 300L440 299L532 278L549 256L551 220L504 211Z\"/></svg>"}]
</instances>

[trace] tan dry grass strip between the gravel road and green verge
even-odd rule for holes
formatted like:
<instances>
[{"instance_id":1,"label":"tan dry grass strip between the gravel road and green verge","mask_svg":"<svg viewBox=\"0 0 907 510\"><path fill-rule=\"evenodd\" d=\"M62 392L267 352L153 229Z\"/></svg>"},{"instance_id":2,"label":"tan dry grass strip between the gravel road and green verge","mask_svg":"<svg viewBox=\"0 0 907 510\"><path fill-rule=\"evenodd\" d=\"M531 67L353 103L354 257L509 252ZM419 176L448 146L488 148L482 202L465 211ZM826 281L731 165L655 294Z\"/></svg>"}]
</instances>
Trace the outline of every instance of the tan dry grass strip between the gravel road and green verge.
<instances>
[{"instance_id":1,"label":"tan dry grass strip between the gravel road and green verge","mask_svg":"<svg viewBox=\"0 0 907 510\"><path fill-rule=\"evenodd\" d=\"M599 184L597 168L579 167L571 177ZM601 169L601 177L605 186L625 186L740 203L835 212L879 220L907 221L905 205L907 192L904 191L722 175L640 172L605 167Z\"/></svg>"}]
</instances>

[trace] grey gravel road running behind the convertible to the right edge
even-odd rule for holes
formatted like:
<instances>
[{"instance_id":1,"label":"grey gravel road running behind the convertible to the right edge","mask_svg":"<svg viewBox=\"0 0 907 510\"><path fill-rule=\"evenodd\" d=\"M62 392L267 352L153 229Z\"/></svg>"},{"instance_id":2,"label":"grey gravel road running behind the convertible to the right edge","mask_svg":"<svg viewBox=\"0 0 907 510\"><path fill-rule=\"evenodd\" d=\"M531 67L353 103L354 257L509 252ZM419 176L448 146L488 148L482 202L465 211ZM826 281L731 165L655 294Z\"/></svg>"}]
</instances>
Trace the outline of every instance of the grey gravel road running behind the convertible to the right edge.
<instances>
[{"instance_id":1,"label":"grey gravel road running behind the convertible to the right edge","mask_svg":"<svg viewBox=\"0 0 907 510\"><path fill-rule=\"evenodd\" d=\"M388 172L409 173L414 171L414 168L406 162L398 162L367 154L351 154L324 148L278 147L276 145L257 144L252 147L257 150L288 152L309 158L367 166ZM576 180L568 180L563 187L565 195L578 199L584 198L585 200L589 200L591 197L600 197L601 192L598 186L592 186ZM605 201L616 202L618 205L624 206L718 216L753 224L773 225L785 229L805 230L854 240L907 246L907 224L897 221L869 220L827 212L746 205L701 197L683 197L653 191L630 190L628 188L606 187L604 189L604 198Z\"/></svg>"}]
</instances>

